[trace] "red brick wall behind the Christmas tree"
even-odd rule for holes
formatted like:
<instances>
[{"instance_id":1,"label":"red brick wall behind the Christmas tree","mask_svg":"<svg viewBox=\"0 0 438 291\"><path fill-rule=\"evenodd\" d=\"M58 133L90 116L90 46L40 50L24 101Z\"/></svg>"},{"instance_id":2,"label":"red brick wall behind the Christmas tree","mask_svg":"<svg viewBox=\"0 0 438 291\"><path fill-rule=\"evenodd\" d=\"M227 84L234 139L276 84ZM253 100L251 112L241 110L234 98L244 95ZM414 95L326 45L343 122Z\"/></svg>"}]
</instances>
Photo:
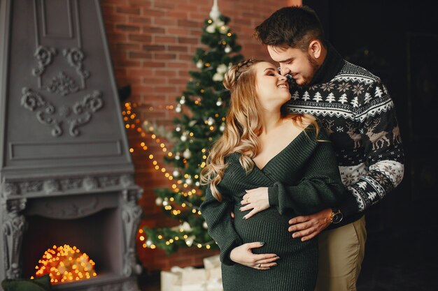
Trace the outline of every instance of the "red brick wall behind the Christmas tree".
<instances>
[{"instance_id":1,"label":"red brick wall behind the Christmas tree","mask_svg":"<svg viewBox=\"0 0 438 291\"><path fill-rule=\"evenodd\" d=\"M219 0L220 11L231 18L229 27L237 33L244 57L269 60L262 45L252 38L254 27L278 8L301 1L278 0ZM138 106L139 115L133 120L148 120L169 126L176 112L176 97L185 89L189 70L196 70L192 57L201 46L199 36L213 0L101 0L108 45L118 87L130 85L128 101ZM155 205L154 188L170 187L171 181L154 169L154 160L162 163L164 152L150 135L141 137L133 126L128 130L129 143L134 149L136 182L144 189L140 204L144 210L142 225L176 225ZM139 144L145 142L147 150ZM169 147L171 148L171 147ZM164 165L165 166L165 165ZM160 250L139 246L139 258L148 270L169 269L174 265L202 265L202 258L217 253L183 249L170 257Z\"/></svg>"}]
</instances>

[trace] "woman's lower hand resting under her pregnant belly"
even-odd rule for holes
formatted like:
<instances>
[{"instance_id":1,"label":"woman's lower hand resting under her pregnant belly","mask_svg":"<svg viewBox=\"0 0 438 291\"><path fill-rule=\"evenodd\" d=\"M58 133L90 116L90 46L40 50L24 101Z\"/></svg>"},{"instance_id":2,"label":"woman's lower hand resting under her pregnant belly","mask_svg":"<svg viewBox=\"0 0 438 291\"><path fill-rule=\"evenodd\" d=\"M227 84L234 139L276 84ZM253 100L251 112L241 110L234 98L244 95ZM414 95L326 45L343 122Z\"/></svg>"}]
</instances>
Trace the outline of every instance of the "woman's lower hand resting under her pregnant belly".
<instances>
[{"instance_id":1,"label":"woman's lower hand resting under her pregnant belly","mask_svg":"<svg viewBox=\"0 0 438 291\"><path fill-rule=\"evenodd\" d=\"M262 242L242 244L241 246L233 248L231 253L229 253L229 258L233 262L243 264L250 268L258 270L271 269L271 267L277 265L275 261L279 259L278 255L274 253L254 254L251 251L253 248L260 248L263 245L264 243Z\"/></svg>"}]
</instances>

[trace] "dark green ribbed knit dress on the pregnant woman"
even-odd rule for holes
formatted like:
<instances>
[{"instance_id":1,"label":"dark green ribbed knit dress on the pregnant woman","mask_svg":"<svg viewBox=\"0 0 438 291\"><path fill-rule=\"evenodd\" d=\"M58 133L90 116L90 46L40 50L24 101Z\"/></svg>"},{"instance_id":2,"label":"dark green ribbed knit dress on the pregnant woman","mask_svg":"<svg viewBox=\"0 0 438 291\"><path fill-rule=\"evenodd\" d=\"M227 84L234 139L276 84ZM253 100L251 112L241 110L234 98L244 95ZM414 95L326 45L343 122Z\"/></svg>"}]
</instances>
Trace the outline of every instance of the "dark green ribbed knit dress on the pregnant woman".
<instances>
[{"instance_id":1,"label":"dark green ribbed knit dress on the pregnant woman","mask_svg":"<svg viewBox=\"0 0 438 291\"><path fill-rule=\"evenodd\" d=\"M262 169L254 166L248 174L239 163L241 154L227 156L228 166L218 184L222 202L207 187L201 211L209 234L220 247L225 291L313 291L315 288L318 241L292 239L288 221L294 216L332 207L346 192L332 144L316 141L314 130L309 128ZM327 135L320 133L318 140L328 140ZM262 186L269 187L271 207L243 219L249 212L239 210L245 190ZM230 216L232 211L234 220ZM253 248L253 253L275 253L280 257L276 267L257 270L230 260L233 248L255 241L264 241L264 246Z\"/></svg>"}]
</instances>

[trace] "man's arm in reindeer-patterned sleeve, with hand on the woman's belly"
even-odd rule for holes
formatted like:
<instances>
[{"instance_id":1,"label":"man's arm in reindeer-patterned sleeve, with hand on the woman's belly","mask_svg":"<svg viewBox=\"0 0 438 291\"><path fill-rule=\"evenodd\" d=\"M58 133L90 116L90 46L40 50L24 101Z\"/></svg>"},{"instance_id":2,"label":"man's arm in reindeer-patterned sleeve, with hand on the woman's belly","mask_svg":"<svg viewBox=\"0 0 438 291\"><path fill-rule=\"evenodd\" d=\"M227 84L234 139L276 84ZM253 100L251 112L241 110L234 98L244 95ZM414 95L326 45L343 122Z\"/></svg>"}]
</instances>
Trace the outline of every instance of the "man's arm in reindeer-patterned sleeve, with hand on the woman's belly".
<instances>
[{"instance_id":1,"label":"man's arm in reindeer-patterned sleeve, with hand on the woman's belly","mask_svg":"<svg viewBox=\"0 0 438 291\"><path fill-rule=\"evenodd\" d=\"M374 82L359 100L356 108L356 120L359 124L362 147L365 147L365 161L368 170L360 177L355 177L353 184L346 184L351 195L339 205L344 216L351 216L365 211L379 202L386 194L400 184L404 175L404 153L400 128L397 123L395 107L386 87L381 82ZM341 173L354 175L348 167L341 167ZM330 225L327 218L331 209L325 209L309 216L292 218L290 232L302 240L311 239Z\"/></svg>"}]
</instances>

